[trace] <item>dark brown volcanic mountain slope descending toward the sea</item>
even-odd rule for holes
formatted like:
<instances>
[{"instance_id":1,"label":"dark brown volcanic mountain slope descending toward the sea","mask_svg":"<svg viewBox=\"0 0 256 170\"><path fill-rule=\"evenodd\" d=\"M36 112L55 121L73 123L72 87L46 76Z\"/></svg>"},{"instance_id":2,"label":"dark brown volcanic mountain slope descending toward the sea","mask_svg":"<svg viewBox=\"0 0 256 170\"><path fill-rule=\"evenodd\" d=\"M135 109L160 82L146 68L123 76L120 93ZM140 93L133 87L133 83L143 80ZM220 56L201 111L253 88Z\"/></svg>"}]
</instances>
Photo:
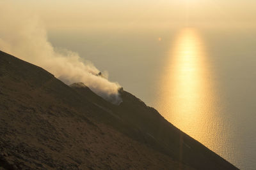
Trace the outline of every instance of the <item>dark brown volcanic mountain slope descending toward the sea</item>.
<instances>
[{"instance_id":1,"label":"dark brown volcanic mountain slope descending toward the sea","mask_svg":"<svg viewBox=\"0 0 256 170\"><path fill-rule=\"evenodd\" d=\"M237 169L120 89L118 106L0 51L0 169Z\"/></svg>"}]
</instances>

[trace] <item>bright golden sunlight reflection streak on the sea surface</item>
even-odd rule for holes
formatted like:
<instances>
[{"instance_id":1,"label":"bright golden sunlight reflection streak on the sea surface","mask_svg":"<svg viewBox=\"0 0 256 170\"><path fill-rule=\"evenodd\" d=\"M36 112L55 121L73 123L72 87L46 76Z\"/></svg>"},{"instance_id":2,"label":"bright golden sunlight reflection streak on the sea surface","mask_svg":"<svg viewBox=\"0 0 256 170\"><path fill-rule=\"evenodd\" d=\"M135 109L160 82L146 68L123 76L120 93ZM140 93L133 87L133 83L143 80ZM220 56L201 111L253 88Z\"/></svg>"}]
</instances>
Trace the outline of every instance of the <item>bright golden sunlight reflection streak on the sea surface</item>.
<instances>
[{"instance_id":1,"label":"bright golden sunlight reflection streak on the sea surface","mask_svg":"<svg viewBox=\"0 0 256 170\"><path fill-rule=\"evenodd\" d=\"M157 110L180 130L232 161L228 125L221 120L221 104L204 43L195 29L186 28L170 48Z\"/></svg>"}]
</instances>

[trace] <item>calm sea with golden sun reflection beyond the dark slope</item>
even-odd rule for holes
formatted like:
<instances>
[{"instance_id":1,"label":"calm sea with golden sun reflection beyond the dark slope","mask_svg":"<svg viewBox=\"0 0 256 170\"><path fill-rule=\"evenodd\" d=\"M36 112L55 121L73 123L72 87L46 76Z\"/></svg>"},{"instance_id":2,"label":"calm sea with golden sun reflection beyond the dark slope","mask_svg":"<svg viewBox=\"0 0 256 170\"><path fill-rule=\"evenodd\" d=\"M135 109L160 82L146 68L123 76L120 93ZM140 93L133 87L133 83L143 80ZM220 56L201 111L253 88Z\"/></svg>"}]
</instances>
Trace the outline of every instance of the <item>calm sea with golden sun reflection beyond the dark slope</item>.
<instances>
[{"instance_id":1,"label":"calm sea with golden sun reflection beyond the dark slope","mask_svg":"<svg viewBox=\"0 0 256 170\"><path fill-rule=\"evenodd\" d=\"M241 169L256 169L256 31L49 32L109 79Z\"/></svg>"}]
</instances>

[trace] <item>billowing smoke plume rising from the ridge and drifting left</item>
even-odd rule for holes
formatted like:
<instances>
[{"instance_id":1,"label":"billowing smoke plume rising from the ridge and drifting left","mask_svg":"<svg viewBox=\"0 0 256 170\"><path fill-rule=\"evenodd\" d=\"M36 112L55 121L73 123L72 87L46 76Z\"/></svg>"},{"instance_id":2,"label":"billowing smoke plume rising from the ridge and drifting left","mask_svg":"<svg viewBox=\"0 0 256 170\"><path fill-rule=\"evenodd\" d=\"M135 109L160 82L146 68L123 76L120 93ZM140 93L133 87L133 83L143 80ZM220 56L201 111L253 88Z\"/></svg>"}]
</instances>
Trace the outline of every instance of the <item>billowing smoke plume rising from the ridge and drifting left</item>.
<instances>
[{"instance_id":1,"label":"billowing smoke plume rising from the ridge and drifting left","mask_svg":"<svg viewBox=\"0 0 256 170\"><path fill-rule=\"evenodd\" d=\"M97 76L100 71L92 62L82 61L76 52L52 46L42 22L31 16L1 5L0 50L43 67L68 85L83 82L111 103L122 101L120 85L109 81L108 73Z\"/></svg>"}]
</instances>

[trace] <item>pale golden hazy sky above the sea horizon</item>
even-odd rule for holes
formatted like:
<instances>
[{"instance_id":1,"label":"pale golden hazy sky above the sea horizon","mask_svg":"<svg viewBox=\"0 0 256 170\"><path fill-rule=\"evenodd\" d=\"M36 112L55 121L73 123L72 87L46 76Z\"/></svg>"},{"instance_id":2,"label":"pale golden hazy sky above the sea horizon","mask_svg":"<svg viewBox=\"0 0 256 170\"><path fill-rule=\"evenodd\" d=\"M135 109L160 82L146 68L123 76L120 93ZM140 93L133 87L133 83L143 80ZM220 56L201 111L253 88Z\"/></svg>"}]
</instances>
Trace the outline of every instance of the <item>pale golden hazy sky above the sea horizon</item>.
<instances>
[{"instance_id":1,"label":"pale golden hazy sky above the sea horizon","mask_svg":"<svg viewBox=\"0 0 256 170\"><path fill-rule=\"evenodd\" d=\"M254 27L255 0L1 0L49 29L230 25Z\"/></svg>"}]
</instances>

